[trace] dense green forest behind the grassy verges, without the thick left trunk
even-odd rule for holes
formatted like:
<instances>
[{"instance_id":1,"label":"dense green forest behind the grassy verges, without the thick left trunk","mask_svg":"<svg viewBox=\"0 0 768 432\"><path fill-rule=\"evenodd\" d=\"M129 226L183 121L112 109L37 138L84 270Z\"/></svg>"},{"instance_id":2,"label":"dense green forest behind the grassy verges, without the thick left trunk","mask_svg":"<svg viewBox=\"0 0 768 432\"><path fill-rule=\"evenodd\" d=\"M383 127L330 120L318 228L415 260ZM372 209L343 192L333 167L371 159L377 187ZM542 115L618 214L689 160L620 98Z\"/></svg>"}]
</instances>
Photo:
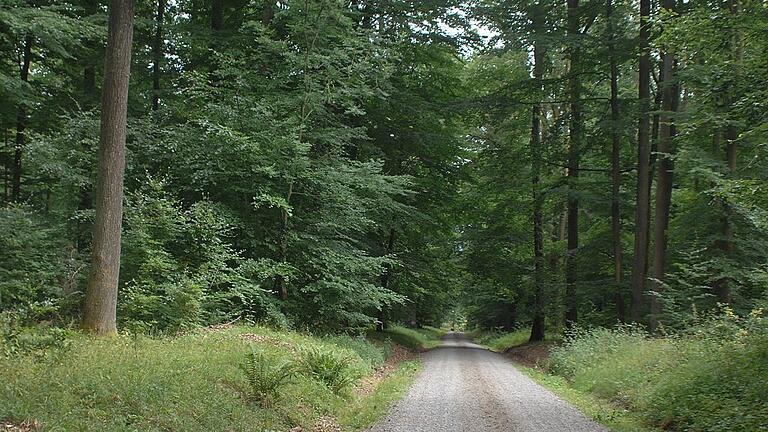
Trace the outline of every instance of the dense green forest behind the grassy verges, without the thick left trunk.
<instances>
[{"instance_id":1,"label":"dense green forest behind the grassy verges, without the thick left trunk","mask_svg":"<svg viewBox=\"0 0 768 432\"><path fill-rule=\"evenodd\" d=\"M81 320L107 3L0 2L6 326ZM133 28L121 329L766 305L764 2L138 0Z\"/></svg>"}]
</instances>

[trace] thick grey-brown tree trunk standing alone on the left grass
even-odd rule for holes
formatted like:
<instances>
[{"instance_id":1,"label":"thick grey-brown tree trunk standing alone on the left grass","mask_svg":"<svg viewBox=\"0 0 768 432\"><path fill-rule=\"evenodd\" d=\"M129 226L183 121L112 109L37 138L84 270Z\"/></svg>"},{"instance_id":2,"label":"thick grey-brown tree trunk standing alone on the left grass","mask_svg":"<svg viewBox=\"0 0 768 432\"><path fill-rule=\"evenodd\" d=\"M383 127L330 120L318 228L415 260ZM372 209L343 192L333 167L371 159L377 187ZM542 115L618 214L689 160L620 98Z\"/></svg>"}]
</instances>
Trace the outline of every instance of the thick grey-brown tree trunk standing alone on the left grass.
<instances>
[{"instance_id":1,"label":"thick grey-brown tree trunk standing alone on the left grass","mask_svg":"<svg viewBox=\"0 0 768 432\"><path fill-rule=\"evenodd\" d=\"M83 311L83 329L97 335L117 332L117 284L120 276L125 129L132 41L133 0L113 0L109 7L101 102L93 257Z\"/></svg>"}]
</instances>

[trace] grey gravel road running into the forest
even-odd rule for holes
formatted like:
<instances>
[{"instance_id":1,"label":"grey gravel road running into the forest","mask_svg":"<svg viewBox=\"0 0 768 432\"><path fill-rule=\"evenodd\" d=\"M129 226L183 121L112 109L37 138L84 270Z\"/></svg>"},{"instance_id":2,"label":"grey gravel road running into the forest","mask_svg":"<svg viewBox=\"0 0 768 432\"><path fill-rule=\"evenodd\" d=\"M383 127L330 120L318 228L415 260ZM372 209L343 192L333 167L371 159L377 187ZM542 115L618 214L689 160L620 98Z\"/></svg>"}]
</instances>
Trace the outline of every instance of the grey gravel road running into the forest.
<instances>
[{"instance_id":1,"label":"grey gravel road running into the forest","mask_svg":"<svg viewBox=\"0 0 768 432\"><path fill-rule=\"evenodd\" d=\"M371 432L607 432L503 356L448 333Z\"/></svg>"}]
</instances>

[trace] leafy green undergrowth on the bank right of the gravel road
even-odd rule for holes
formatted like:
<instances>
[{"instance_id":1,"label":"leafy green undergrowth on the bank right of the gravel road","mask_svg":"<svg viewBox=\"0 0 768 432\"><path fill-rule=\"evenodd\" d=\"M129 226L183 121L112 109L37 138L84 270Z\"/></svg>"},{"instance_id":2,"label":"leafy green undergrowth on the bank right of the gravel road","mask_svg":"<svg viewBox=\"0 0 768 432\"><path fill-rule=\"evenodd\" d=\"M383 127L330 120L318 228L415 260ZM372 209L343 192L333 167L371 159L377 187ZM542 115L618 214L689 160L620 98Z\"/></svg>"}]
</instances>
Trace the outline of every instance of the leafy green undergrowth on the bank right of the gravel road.
<instances>
[{"instance_id":1,"label":"leafy green undergrowth on the bank right of the gravel road","mask_svg":"<svg viewBox=\"0 0 768 432\"><path fill-rule=\"evenodd\" d=\"M764 429L768 326L761 310L729 310L689 331L649 338L634 328L574 334L552 369L579 390L629 406L651 424L681 430Z\"/></svg>"}]
</instances>

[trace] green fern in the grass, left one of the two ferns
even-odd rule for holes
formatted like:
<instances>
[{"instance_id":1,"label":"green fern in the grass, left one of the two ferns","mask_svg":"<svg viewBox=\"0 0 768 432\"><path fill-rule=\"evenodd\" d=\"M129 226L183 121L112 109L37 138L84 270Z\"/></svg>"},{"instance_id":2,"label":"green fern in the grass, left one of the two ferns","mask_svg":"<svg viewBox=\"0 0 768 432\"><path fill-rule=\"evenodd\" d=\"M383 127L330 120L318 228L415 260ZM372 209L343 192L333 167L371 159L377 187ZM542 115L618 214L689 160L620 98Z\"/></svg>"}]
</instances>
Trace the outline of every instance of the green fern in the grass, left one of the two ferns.
<instances>
[{"instance_id":1,"label":"green fern in the grass, left one of the two ferns","mask_svg":"<svg viewBox=\"0 0 768 432\"><path fill-rule=\"evenodd\" d=\"M245 373L250 396L262 404L268 404L278 396L280 387L296 375L297 369L290 360L279 360L253 349L241 365Z\"/></svg>"}]
</instances>

